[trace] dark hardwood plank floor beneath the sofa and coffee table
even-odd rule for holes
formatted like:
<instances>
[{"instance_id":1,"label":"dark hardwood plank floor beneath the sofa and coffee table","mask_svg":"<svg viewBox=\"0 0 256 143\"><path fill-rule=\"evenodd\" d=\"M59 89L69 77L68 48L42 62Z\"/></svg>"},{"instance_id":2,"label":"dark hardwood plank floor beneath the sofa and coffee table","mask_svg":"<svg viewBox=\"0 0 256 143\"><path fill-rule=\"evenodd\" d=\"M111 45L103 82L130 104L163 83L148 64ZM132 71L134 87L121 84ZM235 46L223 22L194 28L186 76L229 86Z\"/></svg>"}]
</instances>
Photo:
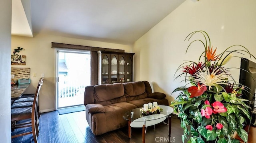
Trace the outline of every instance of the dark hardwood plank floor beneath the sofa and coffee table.
<instances>
[{"instance_id":1,"label":"dark hardwood plank floor beneath the sofa and coffee table","mask_svg":"<svg viewBox=\"0 0 256 143\"><path fill-rule=\"evenodd\" d=\"M26 129L31 130L31 127ZM15 129L12 135L22 132ZM171 137L168 125L159 123L146 130L146 143L182 143L183 130L180 119L172 118ZM12 139L12 143L34 143L32 134ZM85 118L85 111L59 115L58 111L42 113L38 143L141 143L142 128L132 128L132 138L128 138L128 127L94 136Z\"/></svg>"}]
</instances>

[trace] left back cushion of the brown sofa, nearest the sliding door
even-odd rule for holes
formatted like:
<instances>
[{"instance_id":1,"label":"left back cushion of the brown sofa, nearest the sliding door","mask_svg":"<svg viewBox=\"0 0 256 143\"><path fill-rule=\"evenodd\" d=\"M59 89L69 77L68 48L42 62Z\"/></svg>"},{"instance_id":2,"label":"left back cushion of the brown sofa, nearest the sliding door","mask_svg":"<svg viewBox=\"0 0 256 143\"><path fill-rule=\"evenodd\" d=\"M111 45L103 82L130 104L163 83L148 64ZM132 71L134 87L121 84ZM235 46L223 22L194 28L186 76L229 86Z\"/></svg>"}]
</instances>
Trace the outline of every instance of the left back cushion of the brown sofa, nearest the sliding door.
<instances>
[{"instance_id":1,"label":"left back cushion of the brown sofa, nearest the sliding door","mask_svg":"<svg viewBox=\"0 0 256 143\"><path fill-rule=\"evenodd\" d=\"M126 102L124 86L121 83L94 86L94 103L103 106L118 102Z\"/></svg>"}]
</instances>

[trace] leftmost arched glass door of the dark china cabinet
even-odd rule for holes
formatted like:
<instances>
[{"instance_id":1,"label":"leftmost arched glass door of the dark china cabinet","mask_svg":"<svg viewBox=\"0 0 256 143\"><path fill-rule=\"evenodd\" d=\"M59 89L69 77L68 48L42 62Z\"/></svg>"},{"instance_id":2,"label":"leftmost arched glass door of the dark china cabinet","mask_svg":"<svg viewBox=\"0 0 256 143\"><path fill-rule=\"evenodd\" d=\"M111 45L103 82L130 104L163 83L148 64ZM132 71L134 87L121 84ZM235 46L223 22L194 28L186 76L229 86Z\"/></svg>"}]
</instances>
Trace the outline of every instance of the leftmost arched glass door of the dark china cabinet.
<instances>
[{"instance_id":1,"label":"leftmost arched glass door of the dark china cabinet","mask_svg":"<svg viewBox=\"0 0 256 143\"><path fill-rule=\"evenodd\" d=\"M107 55L102 58L102 84L109 83L109 59Z\"/></svg>"}]
</instances>

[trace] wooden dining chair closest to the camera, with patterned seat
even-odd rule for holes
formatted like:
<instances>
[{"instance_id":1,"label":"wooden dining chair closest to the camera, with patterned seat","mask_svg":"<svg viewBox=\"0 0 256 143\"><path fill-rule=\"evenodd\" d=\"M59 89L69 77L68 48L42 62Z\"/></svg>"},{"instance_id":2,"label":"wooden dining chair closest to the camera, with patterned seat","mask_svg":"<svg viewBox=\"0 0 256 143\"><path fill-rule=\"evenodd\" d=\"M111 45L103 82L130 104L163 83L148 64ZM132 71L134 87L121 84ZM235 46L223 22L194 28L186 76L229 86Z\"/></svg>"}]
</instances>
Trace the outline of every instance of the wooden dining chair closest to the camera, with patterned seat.
<instances>
[{"instance_id":1,"label":"wooden dining chair closest to the camera, with patterned seat","mask_svg":"<svg viewBox=\"0 0 256 143\"><path fill-rule=\"evenodd\" d=\"M24 128L24 133L12 135L12 138L14 137L20 137L23 135L31 134L33 135L34 142L37 143L37 137L39 135L39 120L37 118L37 106L38 106L38 95L40 93L40 89L42 86L42 82L40 82L36 88L36 94L34 97L33 105L32 107L26 107L26 108L13 108L11 109L11 121L12 121L12 128ZM26 121L23 123L22 121L29 119L29 121ZM31 119L31 121L30 121ZM25 127L32 127L32 131L27 131Z\"/></svg>"}]
</instances>

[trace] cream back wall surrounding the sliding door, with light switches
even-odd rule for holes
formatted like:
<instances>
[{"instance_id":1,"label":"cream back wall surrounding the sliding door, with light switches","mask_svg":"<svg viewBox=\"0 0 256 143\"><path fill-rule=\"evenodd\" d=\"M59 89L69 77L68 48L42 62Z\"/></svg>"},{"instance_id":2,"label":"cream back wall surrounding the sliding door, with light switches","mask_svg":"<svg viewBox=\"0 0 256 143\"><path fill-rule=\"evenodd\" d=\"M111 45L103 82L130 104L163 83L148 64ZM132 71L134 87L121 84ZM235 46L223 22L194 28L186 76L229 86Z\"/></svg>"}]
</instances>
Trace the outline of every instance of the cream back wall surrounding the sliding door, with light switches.
<instances>
[{"instance_id":1,"label":"cream back wall surrounding the sliding door, with light switches","mask_svg":"<svg viewBox=\"0 0 256 143\"><path fill-rule=\"evenodd\" d=\"M12 65L12 67L29 67L31 85L26 93L33 93L36 90L41 74L44 73L44 84L40 93L40 109L41 112L54 110L55 99L55 54L52 42L66 43L73 45L85 45L91 47L103 47L111 49L124 49L125 52L131 52L130 45L121 45L114 43L106 43L99 41L89 41L84 39L74 39L68 37L34 34L34 38L12 36L12 51L17 47L22 47L25 50L19 55L26 55L26 65ZM11 51L11 53L12 53ZM79 63L78 63L79 64ZM36 77L32 77L32 73L36 73Z\"/></svg>"}]
</instances>

